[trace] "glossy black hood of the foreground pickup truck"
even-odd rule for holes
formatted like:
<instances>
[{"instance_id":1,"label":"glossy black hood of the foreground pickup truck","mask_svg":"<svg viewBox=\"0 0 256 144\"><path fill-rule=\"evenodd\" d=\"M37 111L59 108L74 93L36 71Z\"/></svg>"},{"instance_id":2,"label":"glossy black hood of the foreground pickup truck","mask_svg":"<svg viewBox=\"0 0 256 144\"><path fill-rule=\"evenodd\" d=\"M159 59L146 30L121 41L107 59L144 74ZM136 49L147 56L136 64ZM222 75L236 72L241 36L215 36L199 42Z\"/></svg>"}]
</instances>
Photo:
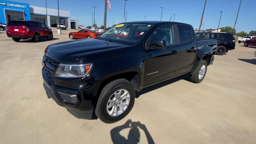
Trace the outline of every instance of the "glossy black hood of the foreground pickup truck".
<instances>
[{"instance_id":1,"label":"glossy black hood of the foreground pickup truck","mask_svg":"<svg viewBox=\"0 0 256 144\"><path fill-rule=\"evenodd\" d=\"M81 56L104 52L111 48L123 47L125 45L116 44L99 39L70 40L50 44L46 56L60 63L74 63Z\"/></svg>"}]
</instances>

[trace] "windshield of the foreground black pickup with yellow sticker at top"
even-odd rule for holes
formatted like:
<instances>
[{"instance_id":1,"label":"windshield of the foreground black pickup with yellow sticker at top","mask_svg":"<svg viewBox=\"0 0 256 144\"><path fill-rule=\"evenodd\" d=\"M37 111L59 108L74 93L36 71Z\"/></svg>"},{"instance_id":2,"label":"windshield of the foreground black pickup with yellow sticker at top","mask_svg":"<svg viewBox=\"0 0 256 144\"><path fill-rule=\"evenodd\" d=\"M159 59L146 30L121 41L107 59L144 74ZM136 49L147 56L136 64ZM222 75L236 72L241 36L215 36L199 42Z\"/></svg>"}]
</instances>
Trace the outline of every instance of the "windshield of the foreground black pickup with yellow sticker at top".
<instances>
[{"instance_id":1,"label":"windshield of the foreground black pickup with yellow sticker at top","mask_svg":"<svg viewBox=\"0 0 256 144\"><path fill-rule=\"evenodd\" d=\"M118 24L104 32L98 39L132 45L136 44L151 27L152 24Z\"/></svg>"}]
</instances>

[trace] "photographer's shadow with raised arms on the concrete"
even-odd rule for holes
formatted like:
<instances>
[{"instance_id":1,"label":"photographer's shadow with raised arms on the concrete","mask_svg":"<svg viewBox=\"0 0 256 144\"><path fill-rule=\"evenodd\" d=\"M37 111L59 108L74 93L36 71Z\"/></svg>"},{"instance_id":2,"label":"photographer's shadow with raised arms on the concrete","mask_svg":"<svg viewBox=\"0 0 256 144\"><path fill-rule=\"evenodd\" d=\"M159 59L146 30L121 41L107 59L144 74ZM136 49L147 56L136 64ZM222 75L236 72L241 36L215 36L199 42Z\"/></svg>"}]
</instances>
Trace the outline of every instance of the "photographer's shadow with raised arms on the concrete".
<instances>
[{"instance_id":1,"label":"photographer's shadow with raised arms on the concrete","mask_svg":"<svg viewBox=\"0 0 256 144\"><path fill-rule=\"evenodd\" d=\"M126 139L124 136L120 134L121 130L124 130L126 128L130 128L128 139ZM144 124L141 124L138 122L132 122L132 120L127 120L127 122L124 125L117 126L110 130L111 139L113 144L138 144L140 143L140 131L144 131L144 134L146 135L146 138L148 140L148 144L155 144L152 136L148 132L148 129Z\"/></svg>"}]
</instances>

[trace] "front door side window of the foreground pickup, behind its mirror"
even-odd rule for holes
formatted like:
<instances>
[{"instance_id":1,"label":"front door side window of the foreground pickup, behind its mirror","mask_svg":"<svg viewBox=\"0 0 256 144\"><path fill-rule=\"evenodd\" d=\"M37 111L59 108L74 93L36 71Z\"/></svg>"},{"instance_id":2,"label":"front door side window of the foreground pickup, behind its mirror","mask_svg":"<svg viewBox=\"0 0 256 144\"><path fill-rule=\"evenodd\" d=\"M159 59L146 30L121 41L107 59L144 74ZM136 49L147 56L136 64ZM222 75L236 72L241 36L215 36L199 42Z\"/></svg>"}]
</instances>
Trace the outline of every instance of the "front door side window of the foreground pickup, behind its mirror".
<instances>
[{"instance_id":1,"label":"front door side window of the foreground pickup, behind its mirror","mask_svg":"<svg viewBox=\"0 0 256 144\"><path fill-rule=\"evenodd\" d=\"M166 45L174 44L174 32L172 26L160 26L151 35L151 40L165 40Z\"/></svg>"}]
</instances>

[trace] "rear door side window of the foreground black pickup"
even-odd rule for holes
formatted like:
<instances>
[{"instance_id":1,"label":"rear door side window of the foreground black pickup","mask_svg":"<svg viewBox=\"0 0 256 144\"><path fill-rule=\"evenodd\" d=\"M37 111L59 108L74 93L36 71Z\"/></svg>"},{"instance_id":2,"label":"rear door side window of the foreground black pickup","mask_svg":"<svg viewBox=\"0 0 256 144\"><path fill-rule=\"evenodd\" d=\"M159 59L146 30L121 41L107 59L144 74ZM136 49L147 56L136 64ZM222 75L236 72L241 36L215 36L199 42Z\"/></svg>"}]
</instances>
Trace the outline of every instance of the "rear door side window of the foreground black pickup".
<instances>
[{"instance_id":1,"label":"rear door side window of the foreground black pickup","mask_svg":"<svg viewBox=\"0 0 256 144\"><path fill-rule=\"evenodd\" d=\"M191 29L187 26L178 26L180 43L191 42L193 40Z\"/></svg>"}]
</instances>

